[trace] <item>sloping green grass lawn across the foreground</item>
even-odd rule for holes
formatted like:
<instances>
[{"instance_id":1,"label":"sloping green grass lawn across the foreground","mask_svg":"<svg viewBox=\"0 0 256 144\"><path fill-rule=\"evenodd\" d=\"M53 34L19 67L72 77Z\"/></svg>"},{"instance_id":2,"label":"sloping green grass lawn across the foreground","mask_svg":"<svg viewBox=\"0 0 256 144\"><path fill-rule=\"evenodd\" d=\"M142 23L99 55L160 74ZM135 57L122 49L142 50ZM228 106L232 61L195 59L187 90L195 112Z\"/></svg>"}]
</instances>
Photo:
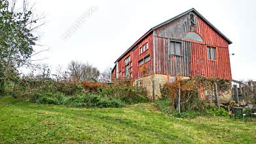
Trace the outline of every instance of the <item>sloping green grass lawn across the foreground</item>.
<instances>
[{"instance_id":1,"label":"sloping green grass lawn across the foreground","mask_svg":"<svg viewBox=\"0 0 256 144\"><path fill-rule=\"evenodd\" d=\"M168 117L154 103L84 109L1 97L0 143L256 143L256 122Z\"/></svg>"}]
</instances>

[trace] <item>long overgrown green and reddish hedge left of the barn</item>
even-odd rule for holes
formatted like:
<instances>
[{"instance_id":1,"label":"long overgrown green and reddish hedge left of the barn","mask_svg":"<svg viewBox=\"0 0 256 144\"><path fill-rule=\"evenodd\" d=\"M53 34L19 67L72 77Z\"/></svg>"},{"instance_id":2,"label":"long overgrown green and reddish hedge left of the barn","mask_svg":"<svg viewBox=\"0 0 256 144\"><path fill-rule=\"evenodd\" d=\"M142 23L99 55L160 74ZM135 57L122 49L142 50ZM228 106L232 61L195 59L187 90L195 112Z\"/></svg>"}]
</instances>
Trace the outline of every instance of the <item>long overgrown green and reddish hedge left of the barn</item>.
<instances>
[{"instance_id":1,"label":"long overgrown green and reddish hedge left of the barn","mask_svg":"<svg viewBox=\"0 0 256 144\"><path fill-rule=\"evenodd\" d=\"M57 82L52 79L21 79L12 86L15 98L29 98L36 103L75 107L123 107L148 101L144 88L131 85L92 82Z\"/></svg>"}]
</instances>

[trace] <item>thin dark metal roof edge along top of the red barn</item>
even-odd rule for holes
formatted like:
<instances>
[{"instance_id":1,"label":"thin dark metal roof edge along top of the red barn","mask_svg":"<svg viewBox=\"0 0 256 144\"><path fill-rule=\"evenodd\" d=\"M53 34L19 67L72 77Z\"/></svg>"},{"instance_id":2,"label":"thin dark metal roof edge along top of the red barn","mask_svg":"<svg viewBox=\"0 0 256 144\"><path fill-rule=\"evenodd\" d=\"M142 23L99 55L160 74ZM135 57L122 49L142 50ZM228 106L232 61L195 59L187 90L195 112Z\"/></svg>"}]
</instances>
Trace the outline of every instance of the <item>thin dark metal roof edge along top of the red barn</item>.
<instances>
[{"instance_id":1,"label":"thin dark metal roof edge along top of the red barn","mask_svg":"<svg viewBox=\"0 0 256 144\"><path fill-rule=\"evenodd\" d=\"M136 43L134 43L134 45L130 46L130 48L128 48L128 50L126 50L126 52L124 52L124 54L122 54L117 60L116 62L119 62L119 60L125 56L128 52L130 52L134 46L137 45L137 43L139 43L141 40L143 40L144 37L147 37L147 35L149 35L153 30L157 29L158 27L164 26L165 24L168 24L169 22L172 22L173 20L180 18L181 16L184 16L185 14L188 14L189 12L195 12L198 16L200 16L200 18L202 18L202 20L204 20L204 22L206 22L209 26L211 26L217 33L219 33L224 39L226 39L226 41L229 44L232 44L232 41L230 41L225 35L223 35L223 33L221 33L221 31L219 31L219 29L217 29L215 26L213 26L208 20L206 20L206 18L204 18L204 16L202 16L202 14L200 14L196 9L192 8L190 10L187 10L177 16L175 16L174 18L171 18L169 20L166 20L165 22L162 22L161 24L158 24L155 27L152 27L151 29L149 29L149 31L147 31L147 33L145 33L141 38L139 38ZM115 62L115 63L116 63Z\"/></svg>"}]
</instances>

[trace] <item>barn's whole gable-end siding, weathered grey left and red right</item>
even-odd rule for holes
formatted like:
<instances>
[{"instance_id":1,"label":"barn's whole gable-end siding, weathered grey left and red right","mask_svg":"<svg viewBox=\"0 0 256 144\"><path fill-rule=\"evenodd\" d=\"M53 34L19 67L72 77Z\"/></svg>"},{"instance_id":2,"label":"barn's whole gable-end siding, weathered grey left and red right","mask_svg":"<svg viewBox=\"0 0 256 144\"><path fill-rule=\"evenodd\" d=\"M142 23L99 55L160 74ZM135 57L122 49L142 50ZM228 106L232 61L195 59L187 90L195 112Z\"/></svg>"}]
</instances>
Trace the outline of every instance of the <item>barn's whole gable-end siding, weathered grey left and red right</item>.
<instances>
[{"instance_id":1,"label":"barn's whole gable-end siding, weathered grey left and red right","mask_svg":"<svg viewBox=\"0 0 256 144\"><path fill-rule=\"evenodd\" d=\"M194 77L216 77L232 79L229 60L229 43L221 37L202 18L195 14L196 26L189 25L189 14L158 27L155 32L155 67L156 73ZM197 33L204 42L189 41L185 36L189 32ZM168 53L170 41L178 41L182 45L181 56ZM217 60L208 60L206 47L216 48Z\"/></svg>"}]
</instances>

